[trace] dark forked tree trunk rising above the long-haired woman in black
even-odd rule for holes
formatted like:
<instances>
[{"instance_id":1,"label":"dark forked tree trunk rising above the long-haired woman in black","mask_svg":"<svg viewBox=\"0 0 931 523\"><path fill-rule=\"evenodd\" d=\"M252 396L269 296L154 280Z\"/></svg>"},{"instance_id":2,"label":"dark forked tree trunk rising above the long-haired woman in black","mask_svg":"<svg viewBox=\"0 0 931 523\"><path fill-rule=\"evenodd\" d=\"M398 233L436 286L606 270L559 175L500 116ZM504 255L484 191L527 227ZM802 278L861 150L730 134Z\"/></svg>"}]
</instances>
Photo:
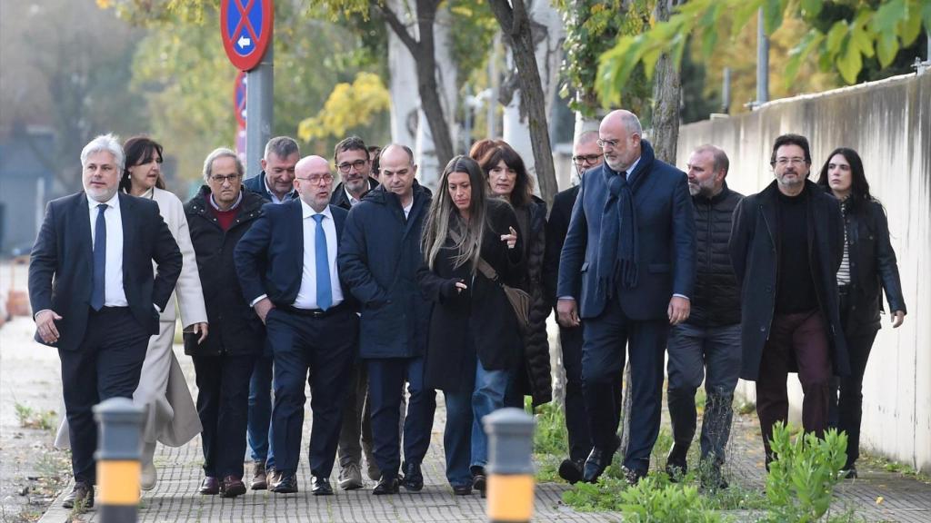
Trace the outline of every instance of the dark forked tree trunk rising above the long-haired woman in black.
<instances>
[{"instance_id":1,"label":"dark forked tree trunk rising above the long-haired woman in black","mask_svg":"<svg viewBox=\"0 0 931 523\"><path fill-rule=\"evenodd\" d=\"M390 7L382 4L374 4L373 7L381 10L385 22L408 48L417 64L417 94L420 95L421 109L430 126L430 136L433 138L437 160L440 165L445 166L452 158L452 135L446 123L446 115L443 114L442 102L439 100L439 84L436 76L437 60L434 55L433 24L437 17L438 5L437 0L416 0L416 38L408 32L398 18L398 14Z\"/></svg>"}]
</instances>

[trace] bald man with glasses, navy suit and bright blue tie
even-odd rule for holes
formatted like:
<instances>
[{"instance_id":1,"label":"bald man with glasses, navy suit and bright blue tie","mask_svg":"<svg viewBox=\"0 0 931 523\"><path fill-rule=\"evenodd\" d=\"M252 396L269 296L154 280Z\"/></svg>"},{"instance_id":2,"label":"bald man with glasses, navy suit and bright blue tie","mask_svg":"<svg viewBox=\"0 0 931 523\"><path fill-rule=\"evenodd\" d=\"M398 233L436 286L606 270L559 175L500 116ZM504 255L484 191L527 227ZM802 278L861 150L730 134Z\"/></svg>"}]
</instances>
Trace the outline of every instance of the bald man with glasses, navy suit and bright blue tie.
<instances>
[{"instance_id":1,"label":"bald man with glasses, navy suit and bright blue tie","mask_svg":"<svg viewBox=\"0 0 931 523\"><path fill-rule=\"evenodd\" d=\"M271 437L277 481L270 489L277 493L298 489L304 382L309 382L311 491L332 494L329 477L358 337L358 316L336 271L348 212L329 205L332 182L325 159L299 161L294 185L300 198L265 205L264 216L234 254L243 294L265 322L275 357Z\"/></svg>"}]
</instances>

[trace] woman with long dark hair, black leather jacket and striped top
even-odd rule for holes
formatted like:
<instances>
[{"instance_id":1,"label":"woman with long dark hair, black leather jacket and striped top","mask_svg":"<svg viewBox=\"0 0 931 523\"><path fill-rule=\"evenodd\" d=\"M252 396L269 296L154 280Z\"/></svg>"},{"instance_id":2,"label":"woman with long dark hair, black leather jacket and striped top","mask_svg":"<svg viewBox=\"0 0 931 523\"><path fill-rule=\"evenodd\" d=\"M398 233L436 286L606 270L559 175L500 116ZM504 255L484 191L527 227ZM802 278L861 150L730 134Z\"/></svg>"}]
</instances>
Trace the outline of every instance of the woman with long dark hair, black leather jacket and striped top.
<instances>
[{"instance_id":1,"label":"woman with long dark hair, black leather jacket and striped top","mask_svg":"<svg viewBox=\"0 0 931 523\"><path fill-rule=\"evenodd\" d=\"M880 329L882 289L892 311L893 329L902 325L906 311L885 209L870 195L870 183L859 154L841 147L828 158L817 183L841 200L844 242L837 284L843 334L850 355L850 376L831 382L830 422L847 433L847 463L843 470L847 477L857 477L863 374Z\"/></svg>"}]
</instances>

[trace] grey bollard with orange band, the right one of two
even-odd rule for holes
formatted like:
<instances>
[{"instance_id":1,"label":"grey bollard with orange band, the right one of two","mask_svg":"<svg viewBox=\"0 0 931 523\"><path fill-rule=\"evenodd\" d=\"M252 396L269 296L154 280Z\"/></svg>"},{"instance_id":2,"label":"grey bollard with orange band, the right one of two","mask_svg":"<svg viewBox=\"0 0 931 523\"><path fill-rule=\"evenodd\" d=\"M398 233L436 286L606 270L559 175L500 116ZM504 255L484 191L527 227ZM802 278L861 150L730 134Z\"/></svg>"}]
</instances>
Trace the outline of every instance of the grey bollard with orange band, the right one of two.
<instances>
[{"instance_id":1,"label":"grey bollard with orange band, the right one of two","mask_svg":"<svg viewBox=\"0 0 931 523\"><path fill-rule=\"evenodd\" d=\"M524 523L533 516L533 416L499 409L482 420L488 435L488 518Z\"/></svg>"}]
</instances>

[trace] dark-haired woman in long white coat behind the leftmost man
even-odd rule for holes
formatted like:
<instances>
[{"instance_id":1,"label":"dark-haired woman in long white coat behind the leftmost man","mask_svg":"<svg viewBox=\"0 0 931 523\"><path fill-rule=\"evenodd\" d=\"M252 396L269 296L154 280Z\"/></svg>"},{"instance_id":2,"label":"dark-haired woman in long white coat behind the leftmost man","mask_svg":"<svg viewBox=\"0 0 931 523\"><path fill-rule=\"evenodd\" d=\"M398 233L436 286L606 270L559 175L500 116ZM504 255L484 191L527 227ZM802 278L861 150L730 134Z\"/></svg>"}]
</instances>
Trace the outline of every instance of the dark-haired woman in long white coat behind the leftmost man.
<instances>
[{"instance_id":1,"label":"dark-haired woman in long white coat behind the leftmost man","mask_svg":"<svg viewBox=\"0 0 931 523\"><path fill-rule=\"evenodd\" d=\"M123 150L127 167L120 180L120 190L155 200L184 259L174 296L159 316L158 334L149 339L139 386L132 396L133 402L145 409L141 487L149 490L155 488L157 479L152 460L155 442L181 447L200 434L202 428L181 365L172 350L177 318L174 298L177 297L181 307L184 329L198 333L200 340L207 337L207 309L182 202L165 190L162 180L162 146L146 137L133 137L123 144ZM67 429L67 421L62 421L55 442L60 449L68 447Z\"/></svg>"}]
</instances>

